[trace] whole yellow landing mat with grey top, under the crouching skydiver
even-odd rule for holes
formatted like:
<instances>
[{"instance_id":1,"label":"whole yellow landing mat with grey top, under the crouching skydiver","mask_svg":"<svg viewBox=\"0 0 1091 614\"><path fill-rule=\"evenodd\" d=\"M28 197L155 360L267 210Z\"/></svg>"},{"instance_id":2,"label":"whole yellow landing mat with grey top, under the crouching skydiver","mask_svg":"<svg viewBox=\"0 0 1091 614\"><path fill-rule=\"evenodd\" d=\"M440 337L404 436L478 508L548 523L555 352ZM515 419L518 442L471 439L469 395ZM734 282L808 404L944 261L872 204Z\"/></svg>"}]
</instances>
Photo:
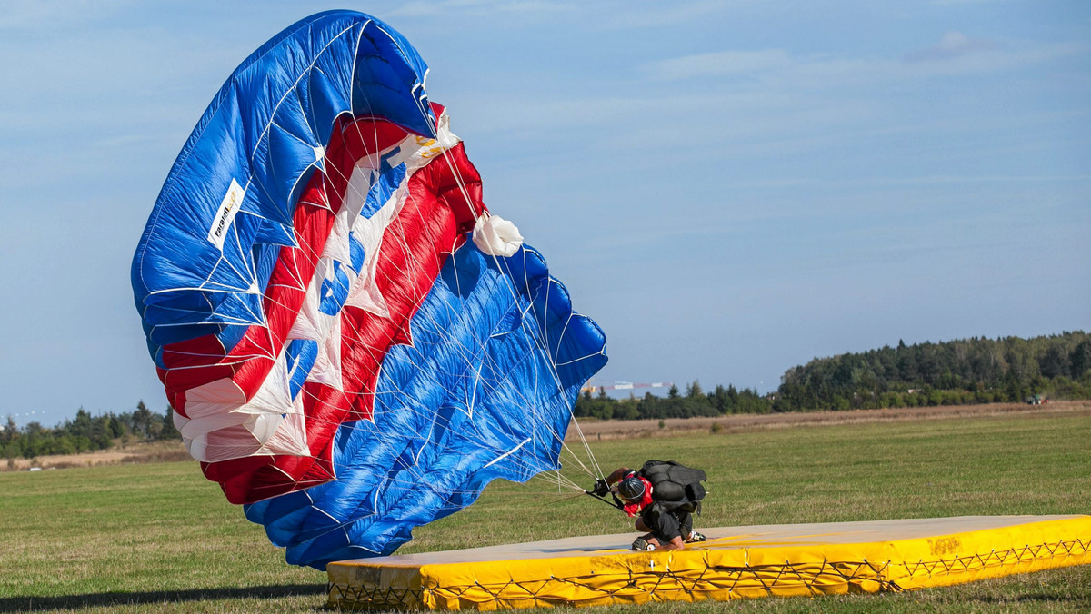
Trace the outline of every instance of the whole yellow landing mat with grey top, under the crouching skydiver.
<instances>
[{"instance_id":1,"label":"whole yellow landing mat with grey top, under the crouching skydiver","mask_svg":"<svg viewBox=\"0 0 1091 614\"><path fill-rule=\"evenodd\" d=\"M1091 516L962 516L700 528L676 552L637 533L332 563L329 605L501 610L903 591L1091 563Z\"/></svg>"}]
</instances>

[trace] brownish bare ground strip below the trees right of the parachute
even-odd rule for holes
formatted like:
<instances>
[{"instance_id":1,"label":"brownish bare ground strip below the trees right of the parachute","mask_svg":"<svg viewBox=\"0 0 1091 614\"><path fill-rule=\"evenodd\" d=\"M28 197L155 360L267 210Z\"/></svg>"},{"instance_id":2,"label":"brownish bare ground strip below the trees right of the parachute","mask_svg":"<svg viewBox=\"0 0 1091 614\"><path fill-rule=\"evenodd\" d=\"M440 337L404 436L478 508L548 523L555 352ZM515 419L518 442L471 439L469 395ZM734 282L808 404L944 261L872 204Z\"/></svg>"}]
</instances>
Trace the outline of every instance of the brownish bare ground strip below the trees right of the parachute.
<instances>
[{"instance_id":1,"label":"brownish bare ground strip below the trees right of the parachute","mask_svg":"<svg viewBox=\"0 0 1091 614\"><path fill-rule=\"evenodd\" d=\"M579 421L579 430L588 440L628 440L655 435L672 435L693 431L742 433L823 424L858 424L912 420L949 420L988 416L1034 416L1076 413L1091 417L1091 401L1050 401L1045 405L990 404L901 409L856 409L851 411L812 411L767 414L729 414L715 418L667 418L663 420ZM662 426L660 426L662 423ZM578 440L575 424L568 429L568 440Z\"/></svg>"}]
</instances>

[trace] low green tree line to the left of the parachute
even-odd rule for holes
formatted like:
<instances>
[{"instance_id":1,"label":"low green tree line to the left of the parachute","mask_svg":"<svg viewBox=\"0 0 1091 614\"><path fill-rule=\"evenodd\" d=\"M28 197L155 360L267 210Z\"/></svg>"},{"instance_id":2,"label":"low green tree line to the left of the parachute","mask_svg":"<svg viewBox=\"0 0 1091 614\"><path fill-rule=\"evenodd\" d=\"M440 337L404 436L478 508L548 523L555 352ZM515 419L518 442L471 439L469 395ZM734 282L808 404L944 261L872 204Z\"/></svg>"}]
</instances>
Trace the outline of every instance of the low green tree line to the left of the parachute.
<instances>
[{"instance_id":1,"label":"low green tree line to the left of the parachute","mask_svg":"<svg viewBox=\"0 0 1091 614\"><path fill-rule=\"evenodd\" d=\"M159 440L181 440L175 429L172 410L168 407L166 413L159 414L140 401L135 410L122 413L92 416L80 408L74 419L52 429L39 422L20 426L9 416L0 429L0 454L7 459L35 458L108 449L117 443Z\"/></svg>"}]
</instances>

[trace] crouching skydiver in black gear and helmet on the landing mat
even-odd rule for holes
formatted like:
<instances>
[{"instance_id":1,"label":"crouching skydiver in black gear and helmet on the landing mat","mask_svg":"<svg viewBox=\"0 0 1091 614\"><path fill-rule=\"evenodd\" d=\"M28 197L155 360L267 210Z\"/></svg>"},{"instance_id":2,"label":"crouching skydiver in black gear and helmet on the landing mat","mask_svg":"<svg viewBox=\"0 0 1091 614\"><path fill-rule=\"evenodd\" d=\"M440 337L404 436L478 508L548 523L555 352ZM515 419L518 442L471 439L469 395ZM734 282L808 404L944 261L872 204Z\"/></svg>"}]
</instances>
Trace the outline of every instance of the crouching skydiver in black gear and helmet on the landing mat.
<instances>
[{"instance_id":1,"label":"crouching skydiver in black gear and helmet on the landing mat","mask_svg":"<svg viewBox=\"0 0 1091 614\"><path fill-rule=\"evenodd\" d=\"M705 541L693 530L693 513L700 514L705 472L674 461L649 460L639 471L620 467L595 482L589 494L612 494L618 507L636 518L636 530L647 531L633 542L633 550L682 550ZM620 498L619 498L620 497Z\"/></svg>"}]
</instances>

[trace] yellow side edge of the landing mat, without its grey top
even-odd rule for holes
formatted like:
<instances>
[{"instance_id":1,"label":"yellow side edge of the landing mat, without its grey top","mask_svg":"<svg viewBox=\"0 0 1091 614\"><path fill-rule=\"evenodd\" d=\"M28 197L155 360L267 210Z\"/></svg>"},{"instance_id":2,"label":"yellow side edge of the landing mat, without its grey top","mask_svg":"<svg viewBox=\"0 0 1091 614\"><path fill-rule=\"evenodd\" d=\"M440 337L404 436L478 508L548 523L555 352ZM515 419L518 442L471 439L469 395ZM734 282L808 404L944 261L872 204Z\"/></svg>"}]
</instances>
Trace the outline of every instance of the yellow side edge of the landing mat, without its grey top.
<instances>
[{"instance_id":1,"label":"yellow side edge of the landing mat, without its grey top","mask_svg":"<svg viewBox=\"0 0 1091 614\"><path fill-rule=\"evenodd\" d=\"M395 567L331 564L334 607L480 610L695 602L939 587L1091 563L1091 516L866 543L739 547L710 540L678 552Z\"/></svg>"}]
</instances>

